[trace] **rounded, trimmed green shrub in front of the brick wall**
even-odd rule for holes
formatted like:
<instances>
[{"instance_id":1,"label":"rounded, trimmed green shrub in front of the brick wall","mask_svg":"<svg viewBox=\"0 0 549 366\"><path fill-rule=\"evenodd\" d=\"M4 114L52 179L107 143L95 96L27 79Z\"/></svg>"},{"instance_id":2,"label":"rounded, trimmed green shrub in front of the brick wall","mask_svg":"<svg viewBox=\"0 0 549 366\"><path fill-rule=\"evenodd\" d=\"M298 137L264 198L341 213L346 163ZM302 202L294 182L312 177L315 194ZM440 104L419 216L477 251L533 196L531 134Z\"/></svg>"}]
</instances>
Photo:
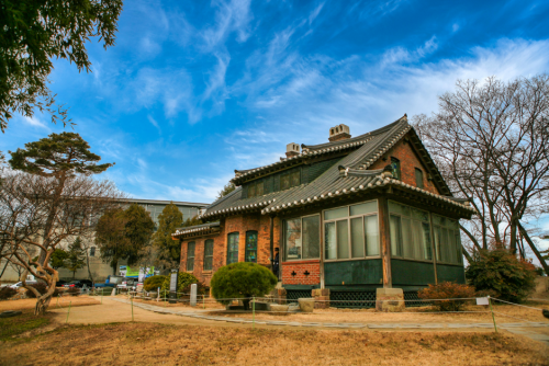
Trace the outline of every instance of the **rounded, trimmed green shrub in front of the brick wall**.
<instances>
[{"instance_id":1,"label":"rounded, trimmed green shrub in front of the brick wall","mask_svg":"<svg viewBox=\"0 0 549 366\"><path fill-rule=\"evenodd\" d=\"M249 298L264 296L277 285L277 277L262 265L239 262L217 270L210 282L212 295L223 305L231 304L227 298ZM249 299L243 300L244 309L249 309Z\"/></svg>"}]
</instances>

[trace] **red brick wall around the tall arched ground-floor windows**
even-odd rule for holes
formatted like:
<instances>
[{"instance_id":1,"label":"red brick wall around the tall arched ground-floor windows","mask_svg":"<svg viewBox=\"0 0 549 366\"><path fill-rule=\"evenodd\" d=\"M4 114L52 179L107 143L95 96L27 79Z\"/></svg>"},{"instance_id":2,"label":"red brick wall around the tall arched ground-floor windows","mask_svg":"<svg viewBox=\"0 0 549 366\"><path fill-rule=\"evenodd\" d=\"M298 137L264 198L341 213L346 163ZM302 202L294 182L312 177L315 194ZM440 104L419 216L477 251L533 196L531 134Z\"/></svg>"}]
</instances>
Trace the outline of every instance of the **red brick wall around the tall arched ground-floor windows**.
<instances>
[{"instance_id":1,"label":"red brick wall around the tall arched ground-floor windows","mask_svg":"<svg viewBox=\"0 0 549 366\"><path fill-rule=\"evenodd\" d=\"M231 232L238 232L238 261L244 262L246 250L246 231L257 231L257 263L270 265L270 218L265 215L242 215L232 216L221 220L220 233L198 239L188 239L181 243L181 263L179 271L187 270L187 244L195 242L194 247L194 274L208 286L213 273L227 263L227 236ZM274 218L274 248L279 248L280 241L280 219ZM204 272L204 241L213 239L213 263L212 271Z\"/></svg>"}]
</instances>

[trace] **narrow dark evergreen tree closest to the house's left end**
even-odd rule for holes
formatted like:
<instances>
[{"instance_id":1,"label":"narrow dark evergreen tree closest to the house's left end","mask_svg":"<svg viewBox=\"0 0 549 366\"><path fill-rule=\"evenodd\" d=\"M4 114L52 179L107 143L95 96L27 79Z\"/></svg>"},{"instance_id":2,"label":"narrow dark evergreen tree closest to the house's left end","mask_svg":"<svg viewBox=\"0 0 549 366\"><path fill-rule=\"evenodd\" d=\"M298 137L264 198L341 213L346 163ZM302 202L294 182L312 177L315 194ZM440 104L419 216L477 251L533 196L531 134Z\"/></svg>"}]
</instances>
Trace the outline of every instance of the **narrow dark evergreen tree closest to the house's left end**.
<instances>
[{"instance_id":1,"label":"narrow dark evergreen tree closest to the house's left end","mask_svg":"<svg viewBox=\"0 0 549 366\"><path fill-rule=\"evenodd\" d=\"M158 215L158 230L153 236L153 244L158 249L158 264L165 267L179 266L181 245L179 240L172 240L171 235L182 226L183 214L173 203L164 207Z\"/></svg>"}]
</instances>

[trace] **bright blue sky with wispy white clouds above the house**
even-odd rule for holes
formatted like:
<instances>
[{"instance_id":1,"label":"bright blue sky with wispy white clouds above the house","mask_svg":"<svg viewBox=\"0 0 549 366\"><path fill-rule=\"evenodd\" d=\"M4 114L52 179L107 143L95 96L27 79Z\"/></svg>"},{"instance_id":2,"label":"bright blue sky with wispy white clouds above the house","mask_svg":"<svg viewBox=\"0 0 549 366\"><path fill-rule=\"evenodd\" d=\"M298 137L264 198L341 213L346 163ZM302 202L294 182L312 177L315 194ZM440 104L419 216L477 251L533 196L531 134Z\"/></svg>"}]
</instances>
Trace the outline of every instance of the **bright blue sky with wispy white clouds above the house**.
<instances>
[{"instance_id":1,"label":"bright blue sky with wispy white clouds above the house","mask_svg":"<svg viewBox=\"0 0 549 366\"><path fill-rule=\"evenodd\" d=\"M547 1L125 1L91 73L55 61L52 90L134 197L210 203L234 169L430 113L459 78L549 66ZM60 131L16 117L0 150ZM549 229L549 227L548 227Z\"/></svg>"}]
</instances>

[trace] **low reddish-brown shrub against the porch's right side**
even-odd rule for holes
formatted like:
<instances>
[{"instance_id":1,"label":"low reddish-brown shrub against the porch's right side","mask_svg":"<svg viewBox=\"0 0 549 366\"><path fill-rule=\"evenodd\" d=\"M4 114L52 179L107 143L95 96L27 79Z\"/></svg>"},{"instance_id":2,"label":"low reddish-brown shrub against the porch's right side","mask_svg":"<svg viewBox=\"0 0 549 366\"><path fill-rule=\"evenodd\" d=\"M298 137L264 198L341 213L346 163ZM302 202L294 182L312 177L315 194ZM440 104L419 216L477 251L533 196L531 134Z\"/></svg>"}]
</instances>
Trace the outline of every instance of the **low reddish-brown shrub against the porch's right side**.
<instances>
[{"instance_id":1,"label":"low reddish-brown shrub against the porch's right side","mask_svg":"<svg viewBox=\"0 0 549 366\"><path fill-rule=\"evenodd\" d=\"M421 299L462 299L474 296L474 288L468 285L458 285L453 282L442 282L438 285L429 285L417 293ZM468 300L440 300L433 301L440 311L460 311Z\"/></svg>"}]
</instances>

